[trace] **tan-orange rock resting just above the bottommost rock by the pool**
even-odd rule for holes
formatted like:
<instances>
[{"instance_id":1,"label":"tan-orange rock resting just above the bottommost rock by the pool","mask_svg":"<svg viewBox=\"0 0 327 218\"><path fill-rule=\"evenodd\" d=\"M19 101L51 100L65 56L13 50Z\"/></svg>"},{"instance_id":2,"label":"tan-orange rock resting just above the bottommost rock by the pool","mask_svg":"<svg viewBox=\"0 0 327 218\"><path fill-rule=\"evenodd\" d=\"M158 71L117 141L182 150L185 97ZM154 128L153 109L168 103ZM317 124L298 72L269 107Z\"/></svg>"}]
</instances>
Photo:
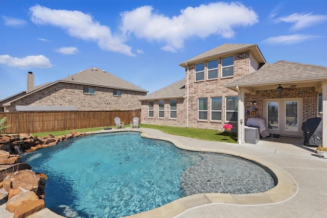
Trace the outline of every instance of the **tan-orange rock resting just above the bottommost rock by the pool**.
<instances>
[{"instance_id":1,"label":"tan-orange rock resting just above the bottommost rock by the pool","mask_svg":"<svg viewBox=\"0 0 327 218\"><path fill-rule=\"evenodd\" d=\"M30 201L36 201L39 198L33 191L24 191L20 194L12 197L9 199L6 203L6 210L13 213L15 212L16 208L24 203L30 202Z\"/></svg>"}]
</instances>

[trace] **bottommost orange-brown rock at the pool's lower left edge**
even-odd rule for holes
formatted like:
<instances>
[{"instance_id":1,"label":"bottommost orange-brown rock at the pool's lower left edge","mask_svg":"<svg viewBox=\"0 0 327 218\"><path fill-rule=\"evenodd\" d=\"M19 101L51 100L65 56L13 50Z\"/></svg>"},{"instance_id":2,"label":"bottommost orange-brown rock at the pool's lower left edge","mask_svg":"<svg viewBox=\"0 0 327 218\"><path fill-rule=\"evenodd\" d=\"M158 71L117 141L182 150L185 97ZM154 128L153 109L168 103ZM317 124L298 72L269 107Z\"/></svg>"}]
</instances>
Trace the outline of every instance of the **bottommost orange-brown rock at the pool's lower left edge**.
<instances>
[{"instance_id":1,"label":"bottommost orange-brown rock at the pool's lower left edge","mask_svg":"<svg viewBox=\"0 0 327 218\"><path fill-rule=\"evenodd\" d=\"M14 213L14 218L24 218L45 208L43 200L30 201L19 205Z\"/></svg>"}]
</instances>

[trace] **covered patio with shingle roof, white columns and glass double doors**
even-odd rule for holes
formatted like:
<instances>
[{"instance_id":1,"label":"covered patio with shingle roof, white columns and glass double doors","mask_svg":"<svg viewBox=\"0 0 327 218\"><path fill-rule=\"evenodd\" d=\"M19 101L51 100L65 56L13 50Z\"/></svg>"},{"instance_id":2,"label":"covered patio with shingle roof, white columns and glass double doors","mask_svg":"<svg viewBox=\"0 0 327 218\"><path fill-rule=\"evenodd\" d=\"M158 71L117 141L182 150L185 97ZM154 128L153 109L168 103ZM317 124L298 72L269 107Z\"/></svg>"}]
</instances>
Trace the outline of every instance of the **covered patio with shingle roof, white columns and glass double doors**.
<instances>
[{"instance_id":1,"label":"covered patio with shingle roof, white columns and glass double doors","mask_svg":"<svg viewBox=\"0 0 327 218\"><path fill-rule=\"evenodd\" d=\"M224 87L238 92L240 144L245 143L244 129L250 117L263 119L269 133L290 138L303 137L301 126L309 118L321 116L322 124L327 125L327 117L322 116L327 110L327 67L278 61ZM254 114L248 114L253 108ZM326 128L322 141L327 147Z\"/></svg>"}]
</instances>

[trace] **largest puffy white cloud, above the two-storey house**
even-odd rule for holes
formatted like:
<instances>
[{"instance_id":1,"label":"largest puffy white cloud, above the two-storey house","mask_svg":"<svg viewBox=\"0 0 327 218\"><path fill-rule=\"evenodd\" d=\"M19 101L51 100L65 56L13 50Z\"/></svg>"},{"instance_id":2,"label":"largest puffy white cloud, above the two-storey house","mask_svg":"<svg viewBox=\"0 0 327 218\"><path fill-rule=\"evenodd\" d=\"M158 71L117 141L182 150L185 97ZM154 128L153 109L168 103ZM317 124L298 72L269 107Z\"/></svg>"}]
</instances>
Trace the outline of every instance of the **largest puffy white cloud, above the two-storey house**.
<instances>
[{"instance_id":1,"label":"largest puffy white cloud, above the two-storey house","mask_svg":"<svg viewBox=\"0 0 327 218\"><path fill-rule=\"evenodd\" d=\"M133 33L138 38L165 42L161 49L176 52L184 40L190 37L218 35L232 38L233 28L251 26L258 22L258 15L241 3L211 3L199 7L188 7L178 16L167 17L153 13L151 6L143 6L121 13L121 30Z\"/></svg>"}]
</instances>

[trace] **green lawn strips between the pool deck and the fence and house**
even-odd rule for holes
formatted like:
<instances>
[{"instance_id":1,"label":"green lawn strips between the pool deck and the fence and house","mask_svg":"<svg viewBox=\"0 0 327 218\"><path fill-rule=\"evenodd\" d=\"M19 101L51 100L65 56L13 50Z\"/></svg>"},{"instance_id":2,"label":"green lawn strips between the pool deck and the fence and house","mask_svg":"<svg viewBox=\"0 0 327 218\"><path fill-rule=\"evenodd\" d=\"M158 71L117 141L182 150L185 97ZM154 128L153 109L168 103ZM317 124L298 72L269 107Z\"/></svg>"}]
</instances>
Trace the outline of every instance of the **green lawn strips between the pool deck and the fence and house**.
<instances>
[{"instance_id":1,"label":"green lawn strips between the pool deck and the fence and house","mask_svg":"<svg viewBox=\"0 0 327 218\"><path fill-rule=\"evenodd\" d=\"M173 126L160 126L160 125L149 125L149 124L139 124L139 127L157 129L164 133L171 135L180 135L190 138L197 138L209 141L224 141L230 143L237 143L237 135L234 132L222 132L218 130L206 130L206 129L196 129L196 128L185 128L185 127L173 127ZM94 132L102 130L106 127L95 127L87 129L77 129L77 132ZM114 128L114 127L111 127ZM52 134L54 136L67 135L72 130L57 131L57 132L43 132L43 133L33 133L33 136L43 137Z\"/></svg>"}]
</instances>

